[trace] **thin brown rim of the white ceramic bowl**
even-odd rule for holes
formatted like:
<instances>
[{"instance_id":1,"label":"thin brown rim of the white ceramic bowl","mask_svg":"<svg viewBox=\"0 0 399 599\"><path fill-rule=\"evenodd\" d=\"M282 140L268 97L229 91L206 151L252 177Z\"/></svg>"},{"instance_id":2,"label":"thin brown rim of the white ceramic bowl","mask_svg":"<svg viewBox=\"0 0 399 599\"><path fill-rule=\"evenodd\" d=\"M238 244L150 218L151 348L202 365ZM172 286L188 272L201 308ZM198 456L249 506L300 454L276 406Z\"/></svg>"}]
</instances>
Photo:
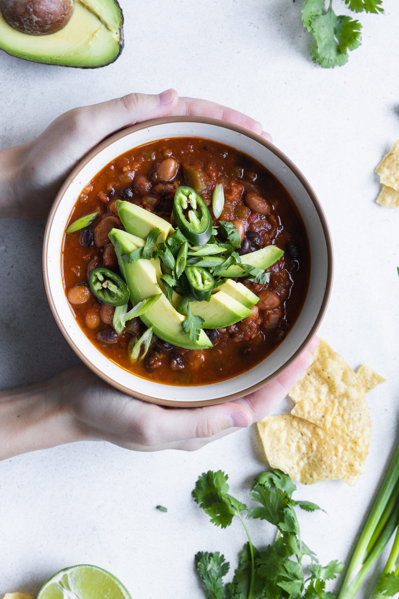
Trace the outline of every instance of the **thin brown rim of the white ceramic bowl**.
<instances>
[{"instance_id":1,"label":"thin brown rim of the white ceramic bowl","mask_svg":"<svg viewBox=\"0 0 399 599\"><path fill-rule=\"evenodd\" d=\"M99 368L97 368L95 365L93 365L92 362L90 362L90 360L86 356L83 355L83 353L80 351L80 349L78 349L78 347L75 345L72 338L69 336L68 332L66 331L65 326L62 323L62 320L59 317L59 314L56 311L54 301L53 301L53 296L51 294L50 282L48 280L47 248L48 248L48 238L50 236L50 229L51 229L51 225L53 223L53 219L54 219L56 210L57 210L63 196L65 195L66 189L68 189L72 180L75 179L77 174L80 173L80 171L83 169L83 167L85 167L90 162L90 160L92 160L92 158L94 158L94 156L96 156L99 152L101 152L104 148L108 147L110 144L114 143L114 141L120 140L121 138L125 137L126 135L129 135L130 133L133 133L136 131L140 131L141 129L147 129L147 128L153 127L155 125L165 125L166 123L179 123L179 122L205 123L206 125L217 125L217 126L220 126L220 127L226 128L226 129L232 129L232 131L236 131L237 133L239 133L241 135L245 135L246 137L252 138L252 140L257 141L258 143L262 144L264 147L266 147L268 150L270 150L270 152L273 152L273 154L278 156L278 158L282 162L284 162L284 164L287 165L287 167L290 168L291 171L293 171L293 173L296 175L297 179L299 179L299 181L303 185L304 189L306 189L307 193L309 194L309 197L312 200L313 205L315 206L316 212L318 213L319 219L321 221L321 225L322 225L322 229L323 229L324 237L325 237L325 242L327 245L327 261L328 261L327 285L325 287L324 298L323 298L318 316L316 317L315 323L313 324L312 329L310 330L309 334L307 335L306 339L303 341L303 343L301 344L299 349L297 349L297 351L291 356L291 358L289 358L287 360L287 362L285 362L285 364L283 364L273 374L270 374L268 377L261 380L261 382L256 383L256 385L252 385L251 387L248 387L247 389L244 389L243 391L240 391L240 392L237 392L237 393L234 393L231 395L225 395L224 397L219 397L214 400L203 400L203 401L163 400L163 399L159 399L156 397L151 397L150 395L138 394L137 392L133 391L132 389L128 389L124 385L121 385L117 381L111 379L105 373L100 371ZM318 197L316 196L316 193L310 186L309 181L307 181L306 177L303 176L303 174L301 173L299 168L297 168L296 165L294 165L294 163L287 156L285 156L285 154L283 152L281 152L281 150L279 150L277 147L273 146L273 144L270 143L270 141L265 140L260 135L252 133L251 131L248 131L247 129L240 127L239 125L233 125L233 123L227 123L227 122L224 122L223 120L211 119L208 117L179 116L179 117L164 117L161 119L152 119L152 120L148 120L148 121L130 126L126 129L122 129L121 131L111 135L111 137L108 137L108 138L106 138L106 140L102 141L98 146L96 146L93 150L91 150L89 153L87 153L86 156L84 156L84 158L81 160L81 162L77 165L77 167L74 168L74 170L71 171L71 173L68 175L68 177L66 178L66 180L60 187L60 190L57 193L56 198L54 199L53 205L51 206L50 212L47 217L47 222L45 224L45 231L44 231L44 237L43 237L43 244L42 244L42 276L43 276L45 295L46 295L51 313L53 314L54 320L56 321L57 326L60 329L60 332L62 333L63 337L65 338L65 340L67 341L69 346L71 346L71 348L74 350L74 352L77 354L77 356L81 359L81 361L84 364L86 364L86 366L88 368L90 368L90 370L92 370L95 374L97 374L97 376L99 376L100 379L104 380L106 383L108 383L112 387L118 389L118 391L121 391L124 394L130 395L131 397L135 397L139 400L148 401L150 403L155 403L155 404L158 404L159 406L166 406L166 407L180 407L180 408L202 407L202 406L212 406L215 404L225 403L226 401L232 401L239 397L243 397L244 395L251 394L252 392L257 391L258 389L260 389L267 383L270 383L272 380L274 380L278 376L280 376L285 370L287 370L287 368L289 368L291 366L291 364L293 364L294 361L296 361L297 358L299 358L301 353L303 353L304 350L306 349L306 347L309 345L313 336L316 334L316 331L318 330L318 328L321 324L321 321L324 317L325 311L327 310L328 301L330 299L331 288L333 285L333 271L334 271L333 243L331 241L331 234L330 234L330 229L328 228L327 219L325 218L324 210L321 207L321 203L320 203ZM305 301L306 301L306 299L305 299ZM221 383L223 383L223 381ZM202 385L199 385L199 386L202 386ZM206 386L206 385L203 385L203 386Z\"/></svg>"}]
</instances>

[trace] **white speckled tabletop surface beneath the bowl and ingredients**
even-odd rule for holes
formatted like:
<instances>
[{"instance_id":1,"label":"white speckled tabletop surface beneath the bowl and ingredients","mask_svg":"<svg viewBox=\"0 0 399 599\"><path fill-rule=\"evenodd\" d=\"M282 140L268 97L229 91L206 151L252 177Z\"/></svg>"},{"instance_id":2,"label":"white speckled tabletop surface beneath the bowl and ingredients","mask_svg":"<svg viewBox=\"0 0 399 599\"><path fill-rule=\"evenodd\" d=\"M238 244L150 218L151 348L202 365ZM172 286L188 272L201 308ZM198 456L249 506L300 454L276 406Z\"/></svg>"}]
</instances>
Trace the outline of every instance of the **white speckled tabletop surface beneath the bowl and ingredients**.
<instances>
[{"instance_id":1,"label":"white speckled tabletop surface beneath the bowl and ingredients","mask_svg":"<svg viewBox=\"0 0 399 599\"><path fill-rule=\"evenodd\" d=\"M300 2L121 4L125 49L106 68L39 65L0 52L1 147L31 140L77 105L169 86L263 122L309 179L331 227L335 280L320 333L352 367L366 362L388 379L368 395L371 447L357 486L319 483L297 493L327 512L300 514L304 541L322 562L345 560L397 436L399 210L374 203L373 171L399 138L399 7L386 0L385 16L360 15L363 46L330 70L309 59ZM334 0L337 10L339 4ZM78 363L45 301L43 228L0 222L3 389ZM245 500L263 468L255 429L196 453L77 443L2 462L0 596L34 594L60 568L91 562L120 577L133 598L203 598L194 553L220 550L233 570L244 542L239 524L221 531L191 500L197 476L209 468L229 473L232 492ZM255 544L272 540L272 527L250 525Z\"/></svg>"}]
</instances>

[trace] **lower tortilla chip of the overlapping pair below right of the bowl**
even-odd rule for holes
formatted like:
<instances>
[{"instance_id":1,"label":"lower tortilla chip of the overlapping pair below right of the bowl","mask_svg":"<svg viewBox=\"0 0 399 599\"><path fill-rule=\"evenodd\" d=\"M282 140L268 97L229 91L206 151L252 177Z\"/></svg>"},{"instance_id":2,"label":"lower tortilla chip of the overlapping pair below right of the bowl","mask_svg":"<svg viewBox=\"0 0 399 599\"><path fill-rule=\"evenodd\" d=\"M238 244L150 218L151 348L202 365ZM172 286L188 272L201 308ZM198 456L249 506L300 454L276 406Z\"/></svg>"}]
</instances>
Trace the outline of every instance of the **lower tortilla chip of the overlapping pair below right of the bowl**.
<instances>
[{"instance_id":1,"label":"lower tortilla chip of the overlapping pair below right of the bowl","mask_svg":"<svg viewBox=\"0 0 399 599\"><path fill-rule=\"evenodd\" d=\"M346 479L364 472L363 447L342 429L331 432L290 415L266 416L258 431L267 461L305 485Z\"/></svg>"}]
</instances>

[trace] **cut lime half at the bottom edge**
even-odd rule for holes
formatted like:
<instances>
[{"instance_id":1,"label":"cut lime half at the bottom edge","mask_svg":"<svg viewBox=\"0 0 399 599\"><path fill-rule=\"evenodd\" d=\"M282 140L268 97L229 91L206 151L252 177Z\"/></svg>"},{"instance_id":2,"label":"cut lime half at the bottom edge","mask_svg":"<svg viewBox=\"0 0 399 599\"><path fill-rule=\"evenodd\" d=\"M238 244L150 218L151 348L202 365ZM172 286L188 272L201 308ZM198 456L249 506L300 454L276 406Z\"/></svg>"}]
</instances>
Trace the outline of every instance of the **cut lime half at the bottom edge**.
<instances>
[{"instance_id":1,"label":"cut lime half at the bottom edge","mask_svg":"<svg viewBox=\"0 0 399 599\"><path fill-rule=\"evenodd\" d=\"M132 599L123 584L95 565L74 565L47 580L37 599Z\"/></svg>"}]
</instances>

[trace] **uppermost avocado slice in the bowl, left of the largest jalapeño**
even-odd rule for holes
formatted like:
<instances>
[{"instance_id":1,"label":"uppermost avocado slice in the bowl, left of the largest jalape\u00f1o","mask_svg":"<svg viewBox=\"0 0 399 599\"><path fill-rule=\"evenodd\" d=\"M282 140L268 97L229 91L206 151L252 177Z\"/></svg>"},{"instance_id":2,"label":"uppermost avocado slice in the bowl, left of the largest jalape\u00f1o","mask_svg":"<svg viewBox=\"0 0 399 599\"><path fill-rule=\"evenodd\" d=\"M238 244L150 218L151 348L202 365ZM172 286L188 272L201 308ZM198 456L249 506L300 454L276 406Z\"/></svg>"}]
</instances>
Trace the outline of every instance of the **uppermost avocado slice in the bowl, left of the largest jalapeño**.
<instances>
[{"instance_id":1,"label":"uppermost avocado slice in the bowl, left of the largest jalape\u00f1o","mask_svg":"<svg viewBox=\"0 0 399 599\"><path fill-rule=\"evenodd\" d=\"M161 231L157 243L166 241L175 232L175 229L173 229L167 220L130 202L121 202L118 205L118 214L127 232L144 239L147 239L149 232L154 226L157 226Z\"/></svg>"}]
</instances>

